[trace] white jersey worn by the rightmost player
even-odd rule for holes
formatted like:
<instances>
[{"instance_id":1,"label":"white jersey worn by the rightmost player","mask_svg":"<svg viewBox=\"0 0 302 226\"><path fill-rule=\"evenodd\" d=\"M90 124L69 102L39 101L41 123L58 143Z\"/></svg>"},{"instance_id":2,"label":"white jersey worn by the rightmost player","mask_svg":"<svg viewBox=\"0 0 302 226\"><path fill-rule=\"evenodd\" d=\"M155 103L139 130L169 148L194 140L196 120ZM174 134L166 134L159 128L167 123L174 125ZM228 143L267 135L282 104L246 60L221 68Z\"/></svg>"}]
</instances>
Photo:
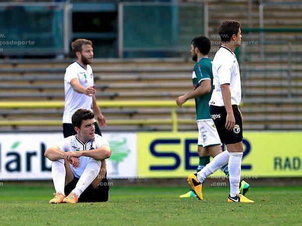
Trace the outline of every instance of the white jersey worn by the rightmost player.
<instances>
[{"instance_id":1,"label":"white jersey worn by the rightmost player","mask_svg":"<svg viewBox=\"0 0 302 226\"><path fill-rule=\"evenodd\" d=\"M236 55L227 47L221 46L216 52L213 62L214 90L209 104L224 106L220 85L229 83L231 103L239 105L241 101L241 78Z\"/></svg>"}]
</instances>

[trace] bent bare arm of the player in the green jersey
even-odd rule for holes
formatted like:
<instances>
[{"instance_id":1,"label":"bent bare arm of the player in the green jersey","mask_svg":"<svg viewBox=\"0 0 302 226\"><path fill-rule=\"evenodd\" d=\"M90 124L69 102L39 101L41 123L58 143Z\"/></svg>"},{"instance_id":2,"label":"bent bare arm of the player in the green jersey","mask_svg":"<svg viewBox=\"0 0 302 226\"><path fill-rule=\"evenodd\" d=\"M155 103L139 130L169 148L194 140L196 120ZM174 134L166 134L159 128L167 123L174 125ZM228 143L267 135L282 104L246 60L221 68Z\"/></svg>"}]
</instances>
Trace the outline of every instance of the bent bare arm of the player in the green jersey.
<instances>
[{"instance_id":1,"label":"bent bare arm of the player in the green jersey","mask_svg":"<svg viewBox=\"0 0 302 226\"><path fill-rule=\"evenodd\" d=\"M178 106L182 106L183 103L185 103L188 99L196 98L198 96L205 95L206 93L209 93L211 91L211 80L210 79L204 79L200 82L200 85L190 91L186 94L179 96L176 98L176 103Z\"/></svg>"}]
</instances>

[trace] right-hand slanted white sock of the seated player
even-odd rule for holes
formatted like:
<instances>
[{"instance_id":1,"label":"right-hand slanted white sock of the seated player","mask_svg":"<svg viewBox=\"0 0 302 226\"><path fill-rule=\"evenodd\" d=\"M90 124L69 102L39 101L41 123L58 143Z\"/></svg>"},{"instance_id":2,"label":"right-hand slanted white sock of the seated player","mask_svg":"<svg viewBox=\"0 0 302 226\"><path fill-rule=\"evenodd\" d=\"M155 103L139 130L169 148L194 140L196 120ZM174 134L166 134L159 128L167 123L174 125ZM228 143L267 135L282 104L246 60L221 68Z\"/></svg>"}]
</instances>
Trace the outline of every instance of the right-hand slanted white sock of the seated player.
<instances>
[{"instance_id":1,"label":"right-hand slanted white sock of the seated player","mask_svg":"<svg viewBox=\"0 0 302 226\"><path fill-rule=\"evenodd\" d=\"M70 193L75 193L80 197L80 195L85 191L85 189L96 179L101 169L101 161L91 159L83 174L81 175L77 185Z\"/></svg>"}]
</instances>

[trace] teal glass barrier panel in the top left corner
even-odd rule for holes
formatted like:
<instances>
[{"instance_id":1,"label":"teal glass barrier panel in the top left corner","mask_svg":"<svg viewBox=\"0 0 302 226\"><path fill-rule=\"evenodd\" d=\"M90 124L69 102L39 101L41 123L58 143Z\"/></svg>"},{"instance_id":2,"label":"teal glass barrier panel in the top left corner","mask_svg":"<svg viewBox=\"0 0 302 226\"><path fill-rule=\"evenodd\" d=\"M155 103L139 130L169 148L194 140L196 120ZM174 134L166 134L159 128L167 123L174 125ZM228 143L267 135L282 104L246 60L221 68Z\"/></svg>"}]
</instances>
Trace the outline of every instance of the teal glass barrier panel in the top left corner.
<instances>
[{"instance_id":1,"label":"teal glass barrier panel in the top left corner","mask_svg":"<svg viewBox=\"0 0 302 226\"><path fill-rule=\"evenodd\" d=\"M71 5L0 3L0 55L67 54Z\"/></svg>"}]
</instances>

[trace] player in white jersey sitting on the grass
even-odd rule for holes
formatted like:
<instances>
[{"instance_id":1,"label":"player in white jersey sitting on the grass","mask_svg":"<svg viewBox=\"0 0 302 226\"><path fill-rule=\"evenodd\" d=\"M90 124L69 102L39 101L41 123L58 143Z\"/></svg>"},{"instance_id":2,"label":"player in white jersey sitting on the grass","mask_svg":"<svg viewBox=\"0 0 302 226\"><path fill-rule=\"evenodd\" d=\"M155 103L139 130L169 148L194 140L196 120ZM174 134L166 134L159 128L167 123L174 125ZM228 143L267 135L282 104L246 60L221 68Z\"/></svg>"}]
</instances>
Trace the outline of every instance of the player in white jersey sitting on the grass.
<instances>
[{"instance_id":1,"label":"player in white jersey sitting on the grass","mask_svg":"<svg viewBox=\"0 0 302 226\"><path fill-rule=\"evenodd\" d=\"M49 203L108 200L105 159L111 150L108 141L95 134L94 117L87 109L75 111L72 125L77 135L64 138L45 151L45 157L53 161L51 173L56 191Z\"/></svg>"}]
</instances>

